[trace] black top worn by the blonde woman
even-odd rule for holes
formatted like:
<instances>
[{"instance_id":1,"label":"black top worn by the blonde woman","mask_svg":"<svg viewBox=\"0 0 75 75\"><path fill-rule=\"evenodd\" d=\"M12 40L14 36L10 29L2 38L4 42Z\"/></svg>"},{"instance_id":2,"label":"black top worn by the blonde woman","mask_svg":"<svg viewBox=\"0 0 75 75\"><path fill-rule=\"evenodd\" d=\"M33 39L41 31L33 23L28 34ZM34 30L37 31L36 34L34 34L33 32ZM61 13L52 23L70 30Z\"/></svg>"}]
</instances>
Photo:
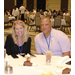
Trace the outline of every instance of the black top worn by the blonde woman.
<instances>
[{"instance_id":1,"label":"black top worn by the blonde woman","mask_svg":"<svg viewBox=\"0 0 75 75\"><path fill-rule=\"evenodd\" d=\"M5 42L5 48L6 48L6 53L8 55L13 55L13 54L20 53L18 45L14 43L13 38L12 38L11 35L7 36L7 39L6 39L6 42ZM23 51L22 51L22 53L25 53L25 54L29 53L29 54L31 54L30 48L31 48L31 38L29 37L28 41L24 42L24 44L23 44Z\"/></svg>"}]
</instances>

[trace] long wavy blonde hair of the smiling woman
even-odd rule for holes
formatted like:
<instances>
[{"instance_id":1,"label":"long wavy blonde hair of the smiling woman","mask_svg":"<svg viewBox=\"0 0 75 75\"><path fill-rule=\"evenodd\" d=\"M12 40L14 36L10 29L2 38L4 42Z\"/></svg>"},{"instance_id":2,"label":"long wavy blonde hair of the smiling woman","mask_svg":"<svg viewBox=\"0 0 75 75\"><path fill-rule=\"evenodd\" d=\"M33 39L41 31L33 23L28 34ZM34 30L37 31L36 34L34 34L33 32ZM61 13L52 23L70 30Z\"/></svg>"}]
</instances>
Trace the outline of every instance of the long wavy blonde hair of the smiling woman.
<instances>
[{"instance_id":1,"label":"long wavy blonde hair of the smiling woman","mask_svg":"<svg viewBox=\"0 0 75 75\"><path fill-rule=\"evenodd\" d=\"M12 38L14 40L14 43L17 44L17 42L18 42L18 37L15 33L15 25L16 24L21 25L24 28L24 34L22 36L22 41L23 41L23 43L27 42L29 35L27 33L25 23L22 20L16 20L13 22L13 26L12 26Z\"/></svg>"}]
</instances>

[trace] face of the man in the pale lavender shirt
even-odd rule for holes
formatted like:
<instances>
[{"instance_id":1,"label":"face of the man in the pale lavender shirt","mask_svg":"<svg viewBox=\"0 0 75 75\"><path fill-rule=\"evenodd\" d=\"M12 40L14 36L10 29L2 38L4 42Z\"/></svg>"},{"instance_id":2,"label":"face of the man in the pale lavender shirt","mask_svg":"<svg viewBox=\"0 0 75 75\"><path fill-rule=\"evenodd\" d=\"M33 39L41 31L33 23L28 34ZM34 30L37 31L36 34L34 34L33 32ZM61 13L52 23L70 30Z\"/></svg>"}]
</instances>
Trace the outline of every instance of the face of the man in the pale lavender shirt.
<instances>
[{"instance_id":1,"label":"face of the man in the pale lavender shirt","mask_svg":"<svg viewBox=\"0 0 75 75\"><path fill-rule=\"evenodd\" d=\"M44 34L50 33L51 23L49 21L49 18L41 19L41 30Z\"/></svg>"}]
</instances>

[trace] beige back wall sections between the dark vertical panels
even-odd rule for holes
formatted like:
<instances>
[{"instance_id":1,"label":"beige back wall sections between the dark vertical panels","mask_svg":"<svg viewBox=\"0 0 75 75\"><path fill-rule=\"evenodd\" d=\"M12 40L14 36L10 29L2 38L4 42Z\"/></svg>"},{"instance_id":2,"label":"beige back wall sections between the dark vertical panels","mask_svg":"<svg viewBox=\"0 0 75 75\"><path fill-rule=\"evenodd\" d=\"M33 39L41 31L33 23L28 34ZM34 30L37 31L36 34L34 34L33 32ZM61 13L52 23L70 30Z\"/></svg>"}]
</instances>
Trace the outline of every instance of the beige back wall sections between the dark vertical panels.
<instances>
[{"instance_id":1,"label":"beige back wall sections between the dark vertical panels","mask_svg":"<svg viewBox=\"0 0 75 75\"><path fill-rule=\"evenodd\" d=\"M27 7L27 3L26 3L27 0L24 0L23 1L23 5L25 7ZM16 5L16 2L17 0L14 0L15 2L15 5ZM34 9L37 10L37 0L34 0ZM48 0L46 1L46 9L56 9L56 10L61 10L61 0ZM68 0L68 12L71 11L71 0Z\"/></svg>"}]
</instances>

